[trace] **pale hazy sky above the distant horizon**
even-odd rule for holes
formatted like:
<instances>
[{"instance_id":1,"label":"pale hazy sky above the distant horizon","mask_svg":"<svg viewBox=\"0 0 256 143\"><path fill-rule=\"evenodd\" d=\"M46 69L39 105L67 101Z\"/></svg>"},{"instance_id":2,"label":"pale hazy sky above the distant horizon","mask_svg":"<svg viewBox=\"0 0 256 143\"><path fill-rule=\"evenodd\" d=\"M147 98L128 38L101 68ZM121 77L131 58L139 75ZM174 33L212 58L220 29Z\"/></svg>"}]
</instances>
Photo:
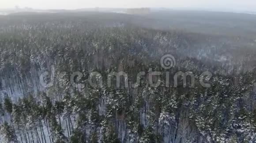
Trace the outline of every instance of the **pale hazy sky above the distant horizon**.
<instances>
[{"instance_id":1,"label":"pale hazy sky above the distant horizon","mask_svg":"<svg viewBox=\"0 0 256 143\"><path fill-rule=\"evenodd\" d=\"M166 7L256 11L256 0L0 0L0 8L77 9L88 7Z\"/></svg>"}]
</instances>

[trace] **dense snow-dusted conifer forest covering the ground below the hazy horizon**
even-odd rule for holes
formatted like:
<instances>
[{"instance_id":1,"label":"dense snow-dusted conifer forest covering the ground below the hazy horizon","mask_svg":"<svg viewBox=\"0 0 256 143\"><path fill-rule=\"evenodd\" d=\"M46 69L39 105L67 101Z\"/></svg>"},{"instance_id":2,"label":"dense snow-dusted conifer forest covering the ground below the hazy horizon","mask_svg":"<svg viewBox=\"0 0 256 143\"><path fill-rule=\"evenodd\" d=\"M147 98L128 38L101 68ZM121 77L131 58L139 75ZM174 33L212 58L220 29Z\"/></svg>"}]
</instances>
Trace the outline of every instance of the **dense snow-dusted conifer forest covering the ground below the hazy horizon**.
<instances>
[{"instance_id":1,"label":"dense snow-dusted conifer forest covering the ground below the hazy horizon","mask_svg":"<svg viewBox=\"0 0 256 143\"><path fill-rule=\"evenodd\" d=\"M196 14L177 29L167 13L0 16L0 141L256 142L256 32L246 35L250 27L239 22L236 31L216 32L227 25L220 22L225 14L218 21L214 13L208 22L218 26L196 32L193 20L206 23ZM237 15L233 21L240 21ZM241 19L256 21L256 16ZM162 68L166 54L175 57L173 68ZM148 82L154 71L163 73L153 77L159 86ZM71 76L74 72L82 75ZM92 78L95 87L89 84L92 72L101 75ZM112 72L125 72L128 79L108 86ZM139 72L145 75L133 86ZM184 87L180 76L173 86L177 72L192 72L194 85L187 81ZM203 72L212 73L209 88L200 84Z\"/></svg>"}]
</instances>

